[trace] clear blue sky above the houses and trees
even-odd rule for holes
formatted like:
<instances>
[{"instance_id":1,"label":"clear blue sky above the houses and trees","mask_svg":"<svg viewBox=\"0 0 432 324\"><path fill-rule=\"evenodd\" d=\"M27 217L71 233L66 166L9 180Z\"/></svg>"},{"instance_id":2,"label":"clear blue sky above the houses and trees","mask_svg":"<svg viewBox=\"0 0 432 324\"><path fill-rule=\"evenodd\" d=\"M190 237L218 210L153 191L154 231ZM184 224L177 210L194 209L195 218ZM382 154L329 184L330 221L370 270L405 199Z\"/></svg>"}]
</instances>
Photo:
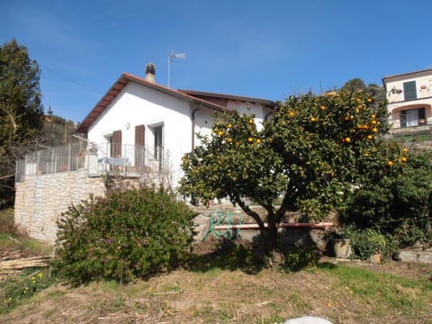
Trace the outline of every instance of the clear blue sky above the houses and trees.
<instances>
[{"instance_id":1,"label":"clear blue sky above the houses and trees","mask_svg":"<svg viewBox=\"0 0 432 324\"><path fill-rule=\"evenodd\" d=\"M432 67L429 0L2 0L0 41L40 64L45 111L82 121L109 87L156 64L180 89L284 100L354 77Z\"/></svg>"}]
</instances>

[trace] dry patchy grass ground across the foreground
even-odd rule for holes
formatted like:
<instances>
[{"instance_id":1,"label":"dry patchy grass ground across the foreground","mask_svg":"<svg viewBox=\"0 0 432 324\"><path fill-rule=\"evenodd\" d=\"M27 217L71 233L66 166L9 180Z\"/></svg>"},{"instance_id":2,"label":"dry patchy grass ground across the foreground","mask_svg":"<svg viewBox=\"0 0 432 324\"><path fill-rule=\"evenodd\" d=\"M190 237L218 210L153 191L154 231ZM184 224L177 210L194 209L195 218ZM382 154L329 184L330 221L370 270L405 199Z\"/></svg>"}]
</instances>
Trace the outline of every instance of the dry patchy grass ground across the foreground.
<instances>
[{"instance_id":1,"label":"dry patchy grass ground across the foreground","mask_svg":"<svg viewBox=\"0 0 432 324\"><path fill-rule=\"evenodd\" d=\"M405 269L406 277L391 275L395 267ZM431 323L431 274L431 266L400 263L328 264L288 274L267 269L257 275L177 270L127 285L53 286L0 322L275 323L309 314L347 324Z\"/></svg>"}]
</instances>

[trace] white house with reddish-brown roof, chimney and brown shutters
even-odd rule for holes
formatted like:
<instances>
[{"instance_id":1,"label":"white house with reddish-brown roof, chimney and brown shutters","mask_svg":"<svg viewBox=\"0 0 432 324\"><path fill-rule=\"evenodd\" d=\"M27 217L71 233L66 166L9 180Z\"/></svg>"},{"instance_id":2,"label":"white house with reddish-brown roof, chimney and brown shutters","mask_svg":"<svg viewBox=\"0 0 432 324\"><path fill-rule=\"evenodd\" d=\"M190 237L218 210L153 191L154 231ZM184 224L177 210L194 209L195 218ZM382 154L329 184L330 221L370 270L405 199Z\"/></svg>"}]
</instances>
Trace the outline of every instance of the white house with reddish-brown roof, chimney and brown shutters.
<instances>
[{"instance_id":1,"label":"white house with reddish-brown roof, chimney and brown shutters","mask_svg":"<svg viewBox=\"0 0 432 324\"><path fill-rule=\"evenodd\" d=\"M146 77L123 73L77 132L86 133L99 162L129 170L160 166L169 158L175 184L181 177L181 159L200 144L197 133L210 134L215 112L237 110L256 115L261 122L274 112L269 100L230 94L174 90L155 82L155 67ZM104 157L104 158L103 158Z\"/></svg>"}]
</instances>

